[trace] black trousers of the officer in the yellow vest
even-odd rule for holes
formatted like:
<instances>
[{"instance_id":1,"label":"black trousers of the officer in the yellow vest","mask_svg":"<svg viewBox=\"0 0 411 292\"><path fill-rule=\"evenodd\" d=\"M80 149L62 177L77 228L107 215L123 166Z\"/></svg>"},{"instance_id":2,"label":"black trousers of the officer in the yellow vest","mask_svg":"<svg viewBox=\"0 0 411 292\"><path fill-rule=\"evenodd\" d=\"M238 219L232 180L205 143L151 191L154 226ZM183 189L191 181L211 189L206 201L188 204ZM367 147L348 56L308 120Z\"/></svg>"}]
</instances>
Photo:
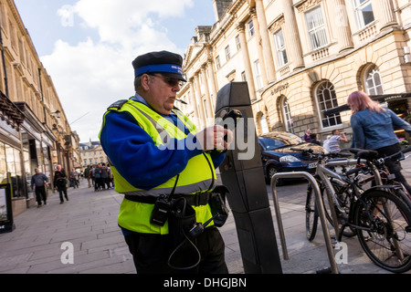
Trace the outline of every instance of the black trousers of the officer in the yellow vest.
<instances>
[{"instance_id":1,"label":"black trousers of the officer in the yellow vest","mask_svg":"<svg viewBox=\"0 0 411 292\"><path fill-rule=\"evenodd\" d=\"M205 228L204 233L193 240L195 246L186 243L175 251L169 235L132 233L124 238L138 274L228 274L223 237L214 226ZM200 263L195 266L198 259ZM174 267L195 267L173 268L168 265L169 261Z\"/></svg>"}]
</instances>

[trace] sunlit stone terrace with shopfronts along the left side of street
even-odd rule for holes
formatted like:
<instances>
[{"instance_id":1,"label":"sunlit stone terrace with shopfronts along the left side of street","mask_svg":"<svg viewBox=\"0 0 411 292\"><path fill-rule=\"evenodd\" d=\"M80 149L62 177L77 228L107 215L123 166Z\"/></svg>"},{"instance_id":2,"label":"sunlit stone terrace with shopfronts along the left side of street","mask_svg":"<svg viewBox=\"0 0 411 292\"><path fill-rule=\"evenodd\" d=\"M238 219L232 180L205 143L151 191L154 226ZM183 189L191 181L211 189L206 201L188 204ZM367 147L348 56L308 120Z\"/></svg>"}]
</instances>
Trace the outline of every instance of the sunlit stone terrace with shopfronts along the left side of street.
<instances>
[{"instance_id":1,"label":"sunlit stone terrace with shopfronts along the left side of street","mask_svg":"<svg viewBox=\"0 0 411 292\"><path fill-rule=\"evenodd\" d=\"M57 164L80 164L79 136L13 0L0 0L0 54L0 183L11 184L16 215L35 201L35 168L52 182Z\"/></svg>"}]
</instances>

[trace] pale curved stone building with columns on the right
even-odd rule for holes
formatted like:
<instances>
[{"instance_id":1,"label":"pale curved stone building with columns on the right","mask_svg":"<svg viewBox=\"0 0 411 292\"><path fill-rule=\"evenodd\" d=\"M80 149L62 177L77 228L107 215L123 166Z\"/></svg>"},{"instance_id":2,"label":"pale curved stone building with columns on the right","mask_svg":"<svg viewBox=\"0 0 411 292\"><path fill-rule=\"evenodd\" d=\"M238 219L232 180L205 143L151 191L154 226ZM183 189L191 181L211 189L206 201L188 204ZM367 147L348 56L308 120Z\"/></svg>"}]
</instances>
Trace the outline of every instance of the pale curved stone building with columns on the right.
<instances>
[{"instance_id":1,"label":"pale curved stone building with columns on the right","mask_svg":"<svg viewBox=\"0 0 411 292\"><path fill-rule=\"evenodd\" d=\"M184 57L181 109L213 123L216 93L247 81L258 134L286 130L351 138L350 111L324 116L362 90L409 120L408 0L213 0L216 23L197 26ZM378 97L379 96L379 97ZM409 137L398 132L399 137ZM346 146L349 146L347 144Z\"/></svg>"}]
</instances>

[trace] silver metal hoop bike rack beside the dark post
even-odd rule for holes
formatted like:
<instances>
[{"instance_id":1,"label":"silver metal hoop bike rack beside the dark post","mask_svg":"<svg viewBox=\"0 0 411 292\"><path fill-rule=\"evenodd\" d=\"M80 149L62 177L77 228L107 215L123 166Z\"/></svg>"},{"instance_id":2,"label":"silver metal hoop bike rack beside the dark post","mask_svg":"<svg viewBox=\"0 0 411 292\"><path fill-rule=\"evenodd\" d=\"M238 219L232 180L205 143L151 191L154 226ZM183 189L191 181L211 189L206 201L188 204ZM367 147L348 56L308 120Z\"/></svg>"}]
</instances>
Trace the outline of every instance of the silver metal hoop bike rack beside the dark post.
<instances>
[{"instance_id":1,"label":"silver metal hoop bike rack beside the dark post","mask_svg":"<svg viewBox=\"0 0 411 292\"><path fill-rule=\"evenodd\" d=\"M276 212L277 224L279 226L279 240L281 242L282 254L283 254L284 259L288 260L289 254L287 251L287 245L286 245L285 235L284 235L284 228L282 225L281 214L279 211L279 197L277 195L277 187L276 187L278 178L305 178L307 179L307 181L309 181L309 183L311 183L312 190L314 191L314 194L315 194L315 201L318 206L319 216L321 220L322 233L324 235L325 245L327 247L327 253L328 253L328 258L330 260L332 274L338 274L339 272L338 272L337 263L335 262L335 256L333 253L330 230L328 228L327 219L325 217L324 205L321 200L320 187L318 186L317 181L314 179L314 177L309 172L280 172L280 173L274 174L273 177L271 178L271 193L273 197L274 209Z\"/></svg>"}]
</instances>

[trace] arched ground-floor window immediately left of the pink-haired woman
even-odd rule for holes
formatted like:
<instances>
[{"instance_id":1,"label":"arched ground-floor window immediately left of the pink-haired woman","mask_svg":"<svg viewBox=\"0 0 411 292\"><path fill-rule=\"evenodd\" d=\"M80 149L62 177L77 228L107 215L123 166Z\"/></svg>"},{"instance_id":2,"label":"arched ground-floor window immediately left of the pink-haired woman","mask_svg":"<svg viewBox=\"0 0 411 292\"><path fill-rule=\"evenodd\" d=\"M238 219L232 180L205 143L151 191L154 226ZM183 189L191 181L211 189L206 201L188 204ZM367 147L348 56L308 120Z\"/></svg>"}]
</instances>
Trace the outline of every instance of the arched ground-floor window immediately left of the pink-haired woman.
<instances>
[{"instance_id":1,"label":"arched ground-floor window immediately left of the pink-haired woman","mask_svg":"<svg viewBox=\"0 0 411 292\"><path fill-rule=\"evenodd\" d=\"M323 114L325 110L331 110L332 108L338 107L337 96L335 95L335 89L332 83L329 81L322 82L315 93L320 107L322 128L341 124L340 113L331 116L324 116Z\"/></svg>"}]
</instances>

